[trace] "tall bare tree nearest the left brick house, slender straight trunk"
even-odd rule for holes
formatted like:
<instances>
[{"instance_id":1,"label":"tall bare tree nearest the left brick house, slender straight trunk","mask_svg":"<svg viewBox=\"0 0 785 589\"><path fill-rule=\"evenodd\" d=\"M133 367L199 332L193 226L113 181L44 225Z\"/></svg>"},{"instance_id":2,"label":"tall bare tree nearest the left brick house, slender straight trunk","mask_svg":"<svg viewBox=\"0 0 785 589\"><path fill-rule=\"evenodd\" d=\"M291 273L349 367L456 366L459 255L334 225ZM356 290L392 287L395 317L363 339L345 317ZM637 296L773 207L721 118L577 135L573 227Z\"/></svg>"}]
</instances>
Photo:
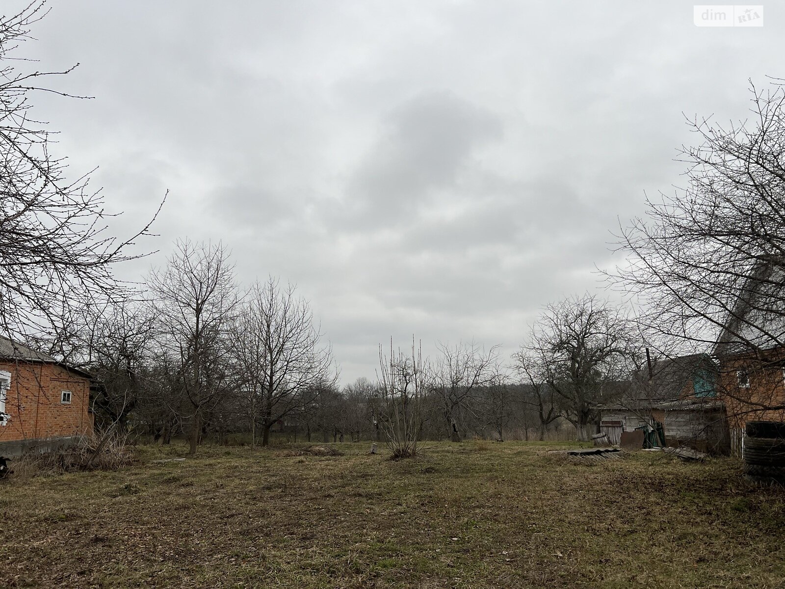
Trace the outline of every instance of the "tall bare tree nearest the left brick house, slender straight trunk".
<instances>
[{"instance_id":1,"label":"tall bare tree nearest the left brick house, slender straight trunk","mask_svg":"<svg viewBox=\"0 0 785 589\"><path fill-rule=\"evenodd\" d=\"M191 423L193 454L206 412L229 377L227 335L239 306L234 268L221 243L178 240L166 269L153 269L149 284L156 340L181 387L181 405L174 410Z\"/></svg>"}]
</instances>

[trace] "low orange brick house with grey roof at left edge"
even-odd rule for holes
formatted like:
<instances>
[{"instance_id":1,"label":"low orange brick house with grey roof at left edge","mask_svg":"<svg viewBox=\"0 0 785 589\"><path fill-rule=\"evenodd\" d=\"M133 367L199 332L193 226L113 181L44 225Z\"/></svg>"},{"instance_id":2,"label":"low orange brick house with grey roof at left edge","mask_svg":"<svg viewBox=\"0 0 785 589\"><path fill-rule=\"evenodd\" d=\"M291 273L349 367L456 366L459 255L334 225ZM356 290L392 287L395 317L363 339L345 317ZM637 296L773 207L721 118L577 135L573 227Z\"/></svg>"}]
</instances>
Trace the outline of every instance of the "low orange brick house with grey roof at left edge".
<instances>
[{"instance_id":1,"label":"low orange brick house with grey roof at left edge","mask_svg":"<svg viewBox=\"0 0 785 589\"><path fill-rule=\"evenodd\" d=\"M90 375L0 337L0 454L68 445L93 433Z\"/></svg>"}]
</instances>

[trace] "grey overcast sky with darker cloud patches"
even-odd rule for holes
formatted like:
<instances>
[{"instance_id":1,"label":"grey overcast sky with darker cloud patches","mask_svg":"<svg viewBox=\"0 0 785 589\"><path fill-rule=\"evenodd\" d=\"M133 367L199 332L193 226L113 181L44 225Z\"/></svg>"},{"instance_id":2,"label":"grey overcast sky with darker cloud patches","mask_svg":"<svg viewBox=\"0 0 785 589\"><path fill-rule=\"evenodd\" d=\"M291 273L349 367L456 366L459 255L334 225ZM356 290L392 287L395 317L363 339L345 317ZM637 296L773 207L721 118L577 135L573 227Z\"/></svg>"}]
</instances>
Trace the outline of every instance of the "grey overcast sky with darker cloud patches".
<instances>
[{"instance_id":1,"label":"grey overcast sky with darker cloud patches","mask_svg":"<svg viewBox=\"0 0 785 589\"><path fill-rule=\"evenodd\" d=\"M95 97L35 112L115 230L170 190L160 254L119 274L222 240L244 284L298 284L342 382L391 336L509 357L542 305L603 293L618 219L681 185L682 113L746 117L747 79L785 77L773 3L739 28L687 2L68 0L33 35Z\"/></svg>"}]
</instances>

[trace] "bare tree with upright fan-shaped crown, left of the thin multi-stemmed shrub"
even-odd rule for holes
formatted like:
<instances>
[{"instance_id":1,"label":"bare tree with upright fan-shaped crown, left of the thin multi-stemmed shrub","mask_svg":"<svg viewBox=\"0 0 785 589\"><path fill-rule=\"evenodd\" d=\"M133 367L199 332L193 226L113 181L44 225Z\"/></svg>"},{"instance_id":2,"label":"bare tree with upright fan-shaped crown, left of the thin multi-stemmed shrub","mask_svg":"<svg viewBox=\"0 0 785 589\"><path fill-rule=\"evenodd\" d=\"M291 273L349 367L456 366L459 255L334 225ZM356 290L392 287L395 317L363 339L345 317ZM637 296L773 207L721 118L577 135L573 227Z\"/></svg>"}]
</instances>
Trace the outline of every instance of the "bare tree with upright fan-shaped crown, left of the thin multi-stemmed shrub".
<instances>
[{"instance_id":1,"label":"bare tree with upright fan-shaped crown, left of the thin multi-stemmed shrub","mask_svg":"<svg viewBox=\"0 0 785 589\"><path fill-rule=\"evenodd\" d=\"M242 321L244 382L258 393L256 411L266 446L274 423L303 411L316 401L319 387L333 384L338 375L311 306L293 285L282 288L272 277L254 284Z\"/></svg>"}]
</instances>

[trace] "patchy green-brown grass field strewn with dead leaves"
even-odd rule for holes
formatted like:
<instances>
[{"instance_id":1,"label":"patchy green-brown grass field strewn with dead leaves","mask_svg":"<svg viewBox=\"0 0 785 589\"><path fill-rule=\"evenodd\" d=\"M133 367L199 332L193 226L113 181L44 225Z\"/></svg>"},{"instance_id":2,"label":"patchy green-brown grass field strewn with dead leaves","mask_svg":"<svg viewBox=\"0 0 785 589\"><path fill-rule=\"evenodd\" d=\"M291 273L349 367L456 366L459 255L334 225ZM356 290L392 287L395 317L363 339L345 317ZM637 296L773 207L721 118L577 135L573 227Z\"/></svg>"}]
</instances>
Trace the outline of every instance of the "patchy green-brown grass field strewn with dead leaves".
<instances>
[{"instance_id":1,"label":"patchy green-brown grass field strewn with dead leaves","mask_svg":"<svg viewBox=\"0 0 785 589\"><path fill-rule=\"evenodd\" d=\"M432 444L398 463L141 448L0 485L2 587L785 587L785 492L739 463Z\"/></svg>"}]
</instances>

